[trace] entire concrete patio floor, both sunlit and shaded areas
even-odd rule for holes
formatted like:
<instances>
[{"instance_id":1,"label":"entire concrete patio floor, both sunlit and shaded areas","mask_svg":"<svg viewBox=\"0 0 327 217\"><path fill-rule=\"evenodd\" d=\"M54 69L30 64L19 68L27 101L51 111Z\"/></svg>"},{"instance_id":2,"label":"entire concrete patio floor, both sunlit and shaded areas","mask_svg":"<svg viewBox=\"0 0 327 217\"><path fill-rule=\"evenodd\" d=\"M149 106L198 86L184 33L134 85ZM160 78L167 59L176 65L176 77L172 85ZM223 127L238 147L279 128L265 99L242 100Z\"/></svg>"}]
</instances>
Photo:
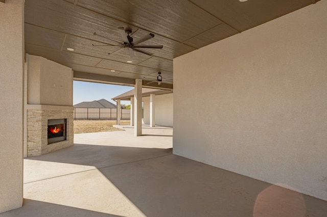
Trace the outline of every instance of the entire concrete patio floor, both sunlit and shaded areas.
<instances>
[{"instance_id":1,"label":"entire concrete patio floor, both sunlit and shaded areas","mask_svg":"<svg viewBox=\"0 0 327 217\"><path fill-rule=\"evenodd\" d=\"M326 201L173 155L172 128L125 129L24 159L24 206L0 216L327 216Z\"/></svg>"}]
</instances>

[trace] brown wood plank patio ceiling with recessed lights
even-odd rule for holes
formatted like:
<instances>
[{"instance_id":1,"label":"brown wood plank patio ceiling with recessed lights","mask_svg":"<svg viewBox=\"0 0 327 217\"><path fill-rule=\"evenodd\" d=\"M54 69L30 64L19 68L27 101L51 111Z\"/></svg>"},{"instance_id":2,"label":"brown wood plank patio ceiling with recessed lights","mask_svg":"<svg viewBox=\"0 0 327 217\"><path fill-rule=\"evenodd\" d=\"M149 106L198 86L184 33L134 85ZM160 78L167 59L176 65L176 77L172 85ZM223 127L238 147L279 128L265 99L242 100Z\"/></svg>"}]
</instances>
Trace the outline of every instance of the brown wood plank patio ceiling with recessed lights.
<instances>
[{"instance_id":1,"label":"brown wood plank patio ceiling with recessed lights","mask_svg":"<svg viewBox=\"0 0 327 217\"><path fill-rule=\"evenodd\" d=\"M71 67L75 79L133 84L161 72L162 84L151 86L172 88L167 82L173 79L165 78L173 77L174 58L317 1L26 0L25 49ZM164 48L144 48L154 55L134 52L130 58L119 46L92 46L119 45L119 26L132 30L134 40L153 33L144 44Z\"/></svg>"}]
</instances>

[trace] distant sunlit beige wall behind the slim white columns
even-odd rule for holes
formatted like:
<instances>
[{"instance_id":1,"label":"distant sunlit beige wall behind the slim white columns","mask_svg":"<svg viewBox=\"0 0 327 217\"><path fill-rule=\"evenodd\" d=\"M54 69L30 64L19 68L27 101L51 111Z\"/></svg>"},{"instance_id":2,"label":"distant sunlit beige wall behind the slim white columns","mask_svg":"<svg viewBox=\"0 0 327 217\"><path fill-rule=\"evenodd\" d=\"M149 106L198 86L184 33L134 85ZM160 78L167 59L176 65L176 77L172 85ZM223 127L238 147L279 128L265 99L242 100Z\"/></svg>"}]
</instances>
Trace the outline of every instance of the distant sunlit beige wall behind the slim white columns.
<instances>
[{"instance_id":1,"label":"distant sunlit beige wall behind the slim white columns","mask_svg":"<svg viewBox=\"0 0 327 217\"><path fill-rule=\"evenodd\" d=\"M143 97L144 118L142 123L150 124L150 97ZM155 125L173 126L173 93L155 96Z\"/></svg>"}]
</instances>

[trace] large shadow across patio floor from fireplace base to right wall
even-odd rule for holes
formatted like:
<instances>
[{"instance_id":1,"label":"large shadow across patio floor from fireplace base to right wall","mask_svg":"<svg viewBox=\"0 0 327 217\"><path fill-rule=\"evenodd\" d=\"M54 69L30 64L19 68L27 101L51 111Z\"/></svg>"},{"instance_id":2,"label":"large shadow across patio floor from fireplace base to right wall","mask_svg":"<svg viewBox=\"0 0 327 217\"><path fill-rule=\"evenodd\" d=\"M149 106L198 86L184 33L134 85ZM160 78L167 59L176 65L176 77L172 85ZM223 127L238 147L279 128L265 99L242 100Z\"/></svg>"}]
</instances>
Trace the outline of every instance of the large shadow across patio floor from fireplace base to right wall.
<instances>
[{"instance_id":1,"label":"large shadow across patio floor from fireplace base to right wall","mask_svg":"<svg viewBox=\"0 0 327 217\"><path fill-rule=\"evenodd\" d=\"M172 149L75 144L28 159L94 166L146 216L327 213L326 201L173 155Z\"/></svg>"}]
</instances>

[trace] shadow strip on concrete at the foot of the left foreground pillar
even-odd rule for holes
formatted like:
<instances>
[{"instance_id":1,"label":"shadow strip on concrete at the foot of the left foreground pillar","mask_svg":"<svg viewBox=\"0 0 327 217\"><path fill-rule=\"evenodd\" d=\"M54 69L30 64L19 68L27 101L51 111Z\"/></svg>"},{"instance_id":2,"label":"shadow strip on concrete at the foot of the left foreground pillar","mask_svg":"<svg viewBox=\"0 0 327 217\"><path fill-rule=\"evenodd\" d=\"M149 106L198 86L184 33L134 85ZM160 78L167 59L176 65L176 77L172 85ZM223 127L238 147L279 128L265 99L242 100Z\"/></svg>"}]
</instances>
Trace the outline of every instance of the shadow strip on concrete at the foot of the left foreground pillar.
<instances>
[{"instance_id":1,"label":"shadow strip on concrete at the foot of the left foreground pillar","mask_svg":"<svg viewBox=\"0 0 327 217\"><path fill-rule=\"evenodd\" d=\"M28 199L24 199L24 204L21 208L0 213L0 216L1 217L12 217L12 216L122 217L120 215L112 215L102 212L95 212L86 209L79 209L70 206L63 206L63 205L46 203L36 200L28 200Z\"/></svg>"}]
</instances>

